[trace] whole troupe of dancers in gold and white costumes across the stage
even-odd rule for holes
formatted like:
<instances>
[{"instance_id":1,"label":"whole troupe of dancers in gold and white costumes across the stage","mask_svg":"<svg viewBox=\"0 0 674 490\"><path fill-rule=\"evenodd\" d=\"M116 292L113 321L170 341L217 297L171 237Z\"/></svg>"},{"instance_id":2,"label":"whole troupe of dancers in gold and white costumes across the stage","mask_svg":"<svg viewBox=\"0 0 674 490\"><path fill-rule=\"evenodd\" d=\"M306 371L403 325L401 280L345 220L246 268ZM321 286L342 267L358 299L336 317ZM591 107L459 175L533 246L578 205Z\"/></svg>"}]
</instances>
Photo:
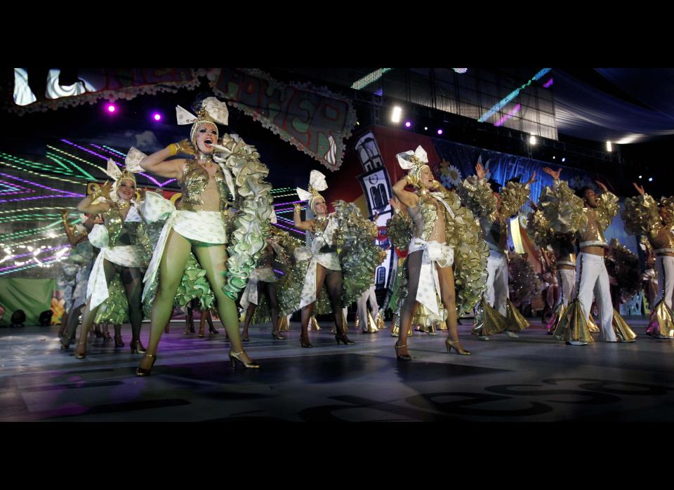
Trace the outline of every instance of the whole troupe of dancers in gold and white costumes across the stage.
<instances>
[{"instance_id":1,"label":"whole troupe of dancers in gold and white costumes across the stage","mask_svg":"<svg viewBox=\"0 0 674 490\"><path fill-rule=\"evenodd\" d=\"M312 171L308 190L298 188L297 192L301 200L308 201L313 216L302 219L300 206L295 206L293 216L296 227L310 236L308 245L271 226L275 220L271 185L265 181L268 169L260 154L239 135L220 137L217 124L227 124L223 102L206 98L195 109L197 115L182 107L176 110L178 124L191 125L189 139L150 155L131 148L124 171L114 163L108 165L114 184L105 183L79 203L79 211L100 214L103 223L93 224L88 232L91 246L100 249L91 272L87 271L88 281L83 277L74 281L71 304L86 299L75 356L86 357L88 331L93 323L105 319L100 311L119 312L122 300L131 322L131 351L144 354L138 376L151 373L173 307L185 306L194 298L201 310L216 307L230 338L232 366L259 367L242 342L248 338L253 305L263 297L276 340L284 340L279 319L300 310L300 345L312 347L312 315L331 310L336 343L352 345L343 305L362 300L374 283L374 270L383 258L374 240L376 225L360 216L354 204L343 201L337 201L336 211L328 213L320 194L327 188L325 177ZM407 339L413 317L420 312L446 324L447 352L470 355L461 345L456 326L457 316L474 309L473 334L480 339L502 332L517 337L528 323L508 299L507 223L529 200L535 172L527 183L513 180L501 187L487 180L486 171L477 164L475 176L465 179L457 190L447 190L433 178L422 147L398 154L397 161L407 171L392 187L397 204L388 223L395 246L407 251L389 303L398 317L397 359L411 359ZM136 199L134 173L138 171L175 178L180 185L179 206L155 192L138 192L140 199ZM593 341L588 319L594 297L602 340L633 341L635 334L612 307L604 265L607 243L603 232L617 214L617 197L598 182L600 196L590 188L574 194L560 180L560 171L544 171L555 183L541 194L536 211L529 216L529 230L536 244L549 246L556 259L561 287L555 337L570 345ZM652 242L661 283L648 333L670 338L674 333L670 310L673 204L663 199L657 205L643 188L637 190L640 195L627 200L623 218L628 232L645 234ZM580 249L577 258L575 241ZM74 244L70 260L84 262L84 257L78 258L81 243ZM277 279L273 263L286 267L282 279ZM85 283L86 291L81 286ZM246 311L243 336L235 303L239 297ZM143 309L150 316L147 347L140 343ZM73 322L69 319L64 348L70 345Z\"/></svg>"}]
</instances>

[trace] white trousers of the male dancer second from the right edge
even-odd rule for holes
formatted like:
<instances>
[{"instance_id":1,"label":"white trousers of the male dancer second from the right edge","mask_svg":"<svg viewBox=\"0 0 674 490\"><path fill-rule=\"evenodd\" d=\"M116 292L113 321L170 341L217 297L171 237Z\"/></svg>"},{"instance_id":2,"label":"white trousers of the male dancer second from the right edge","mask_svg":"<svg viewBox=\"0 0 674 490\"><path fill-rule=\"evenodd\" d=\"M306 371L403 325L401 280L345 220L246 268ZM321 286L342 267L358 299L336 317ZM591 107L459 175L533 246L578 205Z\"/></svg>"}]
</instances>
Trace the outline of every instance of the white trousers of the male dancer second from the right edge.
<instances>
[{"instance_id":1,"label":"white trousers of the male dancer second from the right edge","mask_svg":"<svg viewBox=\"0 0 674 490\"><path fill-rule=\"evenodd\" d=\"M576 259L576 273L579 282L578 299L583 314L586 318L590 317L590 308L594 296L597 300L597 308L599 308L602 338L609 342L615 342L616 333L612 327L613 303L609 286L609 273L606 270L606 265L604 265L604 257L595 256L592 253L579 253Z\"/></svg>"}]
</instances>

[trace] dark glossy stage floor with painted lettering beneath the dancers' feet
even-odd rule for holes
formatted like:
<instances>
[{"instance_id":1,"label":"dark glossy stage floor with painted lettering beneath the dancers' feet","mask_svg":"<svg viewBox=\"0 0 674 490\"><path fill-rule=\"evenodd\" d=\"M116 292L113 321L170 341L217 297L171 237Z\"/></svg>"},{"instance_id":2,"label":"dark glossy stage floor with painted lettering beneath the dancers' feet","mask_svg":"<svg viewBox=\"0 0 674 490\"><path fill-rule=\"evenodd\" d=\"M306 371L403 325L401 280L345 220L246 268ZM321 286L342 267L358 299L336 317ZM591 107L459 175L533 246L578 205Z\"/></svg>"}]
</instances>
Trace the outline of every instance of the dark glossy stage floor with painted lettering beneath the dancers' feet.
<instances>
[{"instance_id":1,"label":"dark glossy stage floor with painted lettering beneath the dancers' feet","mask_svg":"<svg viewBox=\"0 0 674 490\"><path fill-rule=\"evenodd\" d=\"M232 370L220 334L183 336L174 323L152 376L141 355L90 336L88 357L60 350L58 328L0 329L0 421L674 421L674 340L571 347L539 323L488 341L459 326L471 356L447 355L444 333L415 333L414 360L396 362L388 331L350 328L355 345L336 345L329 326L299 345L251 327L258 371ZM143 324L143 343L149 325ZM74 344L73 344L74 347Z\"/></svg>"}]
</instances>

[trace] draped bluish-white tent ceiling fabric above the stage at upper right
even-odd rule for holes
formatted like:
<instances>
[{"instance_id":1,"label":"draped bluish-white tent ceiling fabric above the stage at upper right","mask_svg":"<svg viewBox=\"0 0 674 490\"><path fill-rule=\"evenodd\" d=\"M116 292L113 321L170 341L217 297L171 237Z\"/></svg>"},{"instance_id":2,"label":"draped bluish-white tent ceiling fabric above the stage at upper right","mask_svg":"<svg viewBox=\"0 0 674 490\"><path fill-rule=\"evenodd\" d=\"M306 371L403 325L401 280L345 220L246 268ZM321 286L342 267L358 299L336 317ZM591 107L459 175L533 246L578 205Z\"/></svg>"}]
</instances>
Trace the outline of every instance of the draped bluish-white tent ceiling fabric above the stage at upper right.
<instances>
[{"instance_id":1,"label":"draped bluish-white tent ceiling fabric above the stage at upper right","mask_svg":"<svg viewBox=\"0 0 674 490\"><path fill-rule=\"evenodd\" d=\"M576 138L640 143L674 134L674 69L597 69L639 107L555 69L557 131Z\"/></svg>"}]
</instances>

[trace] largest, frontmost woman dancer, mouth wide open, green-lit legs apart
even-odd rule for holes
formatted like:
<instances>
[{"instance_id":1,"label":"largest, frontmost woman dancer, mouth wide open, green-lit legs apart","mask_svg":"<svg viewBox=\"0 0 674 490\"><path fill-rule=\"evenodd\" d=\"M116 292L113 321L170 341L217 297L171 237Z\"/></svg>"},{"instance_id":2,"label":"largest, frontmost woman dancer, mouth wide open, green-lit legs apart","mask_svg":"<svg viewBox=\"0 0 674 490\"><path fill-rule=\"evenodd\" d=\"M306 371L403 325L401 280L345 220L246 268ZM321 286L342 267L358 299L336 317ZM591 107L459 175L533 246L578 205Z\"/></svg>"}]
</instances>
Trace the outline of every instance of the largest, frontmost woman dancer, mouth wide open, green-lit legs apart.
<instances>
[{"instance_id":1,"label":"largest, frontmost woman dancer, mouth wide open, green-lit legs apart","mask_svg":"<svg viewBox=\"0 0 674 490\"><path fill-rule=\"evenodd\" d=\"M148 208L145 216L153 220L163 213L168 214L169 219L161 231L144 279L144 298L154 292L155 287L156 298L152 304L150 343L136 370L138 376L148 376L157 359L161 333L171 317L173 300L190 251L206 270L206 278L216 296L218 314L232 342L229 352L232 366L239 362L249 369L259 367L242 346L233 298L245 286L245 279L252 269L248 264L254 264L265 243L271 213L271 186L263 182L268 169L260 163L255 148L246 145L237 135L225 134L223 144L217 145L216 121L227 124L228 119L224 102L214 97L206 98L197 109L199 117L182 107L177 108L178 124L192 124L190 141L173 143L147 157L136 149L129 152L131 159L141 158L140 166L145 170L161 177L176 178L183 194L180 210L176 210L166 199L154 199L158 198L157 194L148 193L151 196L148 206L156 204L157 209ZM169 160L179 152L193 157ZM232 204L228 192L237 199L236 223L232 223L233 217L228 212ZM229 233L234 227L236 230Z\"/></svg>"}]
</instances>

